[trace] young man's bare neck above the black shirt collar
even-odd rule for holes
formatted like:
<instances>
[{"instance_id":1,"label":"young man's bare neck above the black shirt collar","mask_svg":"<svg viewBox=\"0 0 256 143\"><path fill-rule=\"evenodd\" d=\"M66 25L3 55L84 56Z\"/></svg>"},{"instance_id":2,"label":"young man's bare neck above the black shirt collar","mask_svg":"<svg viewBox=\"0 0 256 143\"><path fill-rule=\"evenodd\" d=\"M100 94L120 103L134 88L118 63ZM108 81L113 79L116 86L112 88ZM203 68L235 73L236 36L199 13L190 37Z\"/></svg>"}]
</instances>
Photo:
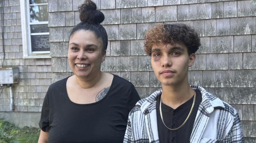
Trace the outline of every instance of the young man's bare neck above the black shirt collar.
<instances>
[{"instance_id":1,"label":"young man's bare neck above the black shirt collar","mask_svg":"<svg viewBox=\"0 0 256 143\"><path fill-rule=\"evenodd\" d=\"M194 95L194 90L189 86L188 82L177 86L162 85L162 89L162 103L173 109L187 102Z\"/></svg>"}]
</instances>

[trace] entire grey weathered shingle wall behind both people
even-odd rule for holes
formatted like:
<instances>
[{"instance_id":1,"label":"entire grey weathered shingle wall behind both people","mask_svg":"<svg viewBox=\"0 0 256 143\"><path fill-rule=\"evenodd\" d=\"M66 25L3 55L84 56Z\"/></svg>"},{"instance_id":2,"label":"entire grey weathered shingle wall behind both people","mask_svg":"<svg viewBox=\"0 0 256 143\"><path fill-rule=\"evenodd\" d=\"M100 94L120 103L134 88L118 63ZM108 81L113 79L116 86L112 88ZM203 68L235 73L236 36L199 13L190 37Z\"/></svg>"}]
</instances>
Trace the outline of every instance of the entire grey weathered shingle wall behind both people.
<instances>
[{"instance_id":1,"label":"entire grey weathered shingle wall behind both people","mask_svg":"<svg viewBox=\"0 0 256 143\"><path fill-rule=\"evenodd\" d=\"M235 107L246 142L256 142L256 3L252 0L94 1L105 15L102 24L109 36L102 71L131 81L141 98L149 96L161 85L154 76L150 57L143 51L146 31L163 22L188 24L199 33L202 43L196 63L189 68L189 82L206 88ZM6 51L10 47L5 65L20 68L21 82L14 86L15 112L39 112L49 84L71 75L67 61L68 37L80 22L77 10L82 3L83 0L49 0L52 59L16 57L16 53L22 52L21 37L13 40L14 37L8 38L7 34L4 38ZM15 19L16 25L11 22L5 27L10 30L18 27L16 32L21 36L20 22L17 22L20 21L19 8L14 8L18 5L17 0L5 4L7 10L10 9L7 15L16 13L16 17L12 14L6 19L8 23ZM10 33L8 28L6 33ZM17 45L18 49L11 48ZM0 53L1 60L2 55ZM8 111L8 96L8 91L3 90L1 111Z\"/></svg>"}]
</instances>

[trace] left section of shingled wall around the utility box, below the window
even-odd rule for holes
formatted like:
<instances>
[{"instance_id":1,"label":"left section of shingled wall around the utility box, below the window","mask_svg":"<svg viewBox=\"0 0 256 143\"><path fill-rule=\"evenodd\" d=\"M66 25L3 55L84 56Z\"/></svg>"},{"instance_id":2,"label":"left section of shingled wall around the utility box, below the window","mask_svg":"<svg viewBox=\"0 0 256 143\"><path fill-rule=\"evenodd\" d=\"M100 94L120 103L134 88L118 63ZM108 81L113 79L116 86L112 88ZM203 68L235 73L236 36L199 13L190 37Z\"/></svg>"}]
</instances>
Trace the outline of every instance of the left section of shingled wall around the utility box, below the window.
<instances>
[{"instance_id":1,"label":"left section of shingled wall around the utility box, below the window","mask_svg":"<svg viewBox=\"0 0 256 143\"><path fill-rule=\"evenodd\" d=\"M38 127L44 96L52 83L52 60L23 59L20 1L3 0L3 10L4 31L0 28L0 67L3 60L4 67L18 67L19 83L12 84L14 111L11 111L9 106L10 89L4 85L3 90L0 90L0 118L4 116L6 120L19 126Z\"/></svg>"}]
</instances>

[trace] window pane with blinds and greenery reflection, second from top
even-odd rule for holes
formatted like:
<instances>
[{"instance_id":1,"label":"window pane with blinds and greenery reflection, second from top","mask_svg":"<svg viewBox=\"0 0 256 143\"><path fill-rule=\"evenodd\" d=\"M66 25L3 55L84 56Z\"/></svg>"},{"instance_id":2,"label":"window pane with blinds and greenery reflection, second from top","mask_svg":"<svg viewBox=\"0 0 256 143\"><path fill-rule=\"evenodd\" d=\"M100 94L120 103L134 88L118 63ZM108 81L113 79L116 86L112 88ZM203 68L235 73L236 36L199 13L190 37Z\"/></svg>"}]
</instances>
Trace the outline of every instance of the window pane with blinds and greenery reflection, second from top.
<instances>
[{"instance_id":1,"label":"window pane with blinds and greenery reflection, second from top","mask_svg":"<svg viewBox=\"0 0 256 143\"><path fill-rule=\"evenodd\" d=\"M48 21L48 5L30 6L30 22Z\"/></svg>"}]
</instances>

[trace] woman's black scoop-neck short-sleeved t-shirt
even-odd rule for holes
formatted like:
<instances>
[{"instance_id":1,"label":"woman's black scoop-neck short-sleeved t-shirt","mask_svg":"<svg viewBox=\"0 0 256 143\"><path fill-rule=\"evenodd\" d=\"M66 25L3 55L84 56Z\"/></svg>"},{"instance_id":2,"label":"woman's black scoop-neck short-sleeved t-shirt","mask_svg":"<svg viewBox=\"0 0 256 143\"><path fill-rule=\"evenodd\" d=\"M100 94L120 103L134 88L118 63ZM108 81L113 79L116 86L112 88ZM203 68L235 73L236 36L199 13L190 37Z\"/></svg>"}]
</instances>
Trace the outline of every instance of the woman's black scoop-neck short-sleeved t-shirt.
<instances>
[{"instance_id":1,"label":"woman's black scoop-neck short-sleeved t-shirt","mask_svg":"<svg viewBox=\"0 0 256 143\"><path fill-rule=\"evenodd\" d=\"M67 79L45 96L39 127L49 131L48 143L122 143L129 111L140 100L132 83L114 75L103 99L76 104L68 98Z\"/></svg>"}]
</instances>

